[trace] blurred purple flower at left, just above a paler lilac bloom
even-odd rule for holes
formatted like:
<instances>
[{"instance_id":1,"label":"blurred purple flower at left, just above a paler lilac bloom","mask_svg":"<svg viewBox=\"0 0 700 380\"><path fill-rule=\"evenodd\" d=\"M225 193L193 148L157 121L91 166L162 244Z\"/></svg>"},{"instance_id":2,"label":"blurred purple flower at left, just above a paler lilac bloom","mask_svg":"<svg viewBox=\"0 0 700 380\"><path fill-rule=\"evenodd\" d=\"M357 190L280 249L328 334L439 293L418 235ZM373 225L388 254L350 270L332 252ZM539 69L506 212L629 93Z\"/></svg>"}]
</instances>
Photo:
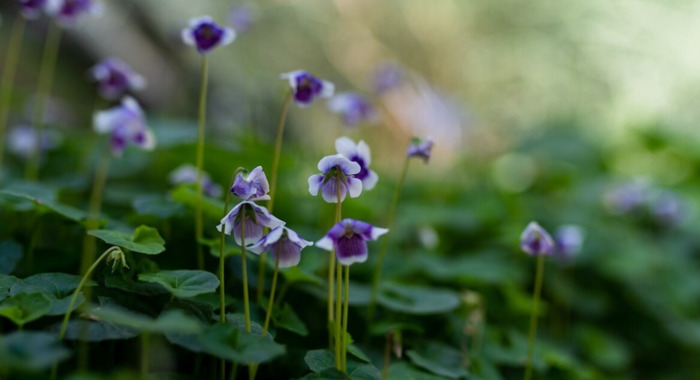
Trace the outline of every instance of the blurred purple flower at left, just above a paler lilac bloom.
<instances>
[{"instance_id":1,"label":"blurred purple flower at left, just above a paler lilac bloom","mask_svg":"<svg viewBox=\"0 0 700 380\"><path fill-rule=\"evenodd\" d=\"M107 100L146 86L146 80L119 58L102 60L90 69L90 75L98 82L100 95Z\"/></svg>"}]
</instances>

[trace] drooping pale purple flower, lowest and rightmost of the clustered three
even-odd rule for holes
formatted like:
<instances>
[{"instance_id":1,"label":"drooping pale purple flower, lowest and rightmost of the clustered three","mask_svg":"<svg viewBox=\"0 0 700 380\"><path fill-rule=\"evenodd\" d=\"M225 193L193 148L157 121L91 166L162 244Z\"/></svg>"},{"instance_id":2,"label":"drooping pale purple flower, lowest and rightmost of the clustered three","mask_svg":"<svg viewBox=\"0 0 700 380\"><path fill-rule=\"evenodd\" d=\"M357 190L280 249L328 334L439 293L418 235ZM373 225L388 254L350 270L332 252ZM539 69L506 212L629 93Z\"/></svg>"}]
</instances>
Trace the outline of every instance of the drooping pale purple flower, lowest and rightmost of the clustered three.
<instances>
[{"instance_id":1,"label":"drooping pale purple flower, lowest and rightmost of the clustered three","mask_svg":"<svg viewBox=\"0 0 700 380\"><path fill-rule=\"evenodd\" d=\"M279 255L279 267L289 268L299 264L301 250L310 245L313 243L300 238L296 232L287 227L279 226L263 236L249 249L257 254L269 252L272 254L273 260L277 260Z\"/></svg>"}]
</instances>

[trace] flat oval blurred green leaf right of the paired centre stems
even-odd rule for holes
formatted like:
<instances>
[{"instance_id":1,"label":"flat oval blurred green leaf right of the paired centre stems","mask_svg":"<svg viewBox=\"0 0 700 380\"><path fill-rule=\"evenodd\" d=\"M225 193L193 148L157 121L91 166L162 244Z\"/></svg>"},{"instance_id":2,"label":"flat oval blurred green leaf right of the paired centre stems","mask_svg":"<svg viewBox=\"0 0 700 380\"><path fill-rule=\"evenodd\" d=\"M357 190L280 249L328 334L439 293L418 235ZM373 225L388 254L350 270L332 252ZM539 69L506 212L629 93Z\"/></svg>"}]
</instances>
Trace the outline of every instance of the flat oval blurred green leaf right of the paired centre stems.
<instances>
[{"instance_id":1,"label":"flat oval blurred green leaf right of the paired centre stems","mask_svg":"<svg viewBox=\"0 0 700 380\"><path fill-rule=\"evenodd\" d=\"M379 288L377 302L402 313L440 314L456 309L462 301L459 294L447 289L386 283Z\"/></svg>"}]
</instances>

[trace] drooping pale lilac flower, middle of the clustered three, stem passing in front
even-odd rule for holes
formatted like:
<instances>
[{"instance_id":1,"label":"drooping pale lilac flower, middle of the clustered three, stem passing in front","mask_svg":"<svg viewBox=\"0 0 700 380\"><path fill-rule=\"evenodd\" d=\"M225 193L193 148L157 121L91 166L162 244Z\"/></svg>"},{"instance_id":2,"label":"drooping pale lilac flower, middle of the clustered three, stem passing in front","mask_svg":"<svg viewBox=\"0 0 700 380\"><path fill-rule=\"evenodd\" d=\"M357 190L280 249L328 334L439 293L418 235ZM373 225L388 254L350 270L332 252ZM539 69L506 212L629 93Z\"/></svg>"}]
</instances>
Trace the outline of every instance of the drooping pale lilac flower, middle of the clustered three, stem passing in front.
<instances>
[{"instance_id":1,"label":"drooping pale lilac flower, middle of the clustered three, stem passing in front","mask_svg":"<svg viewBox=\"0 0 700 380\"><path fill-rule=\"evenodd\" d=\"M242 210L245 209L245 221L242 221ZM263 228L277 228L284 225L284 222L270 214L265 207L258 206L250 201L243 201L229 211L221 224L216 226L216 229L221 231L224 229L226 235L233 232L233 237L238 245L241 245L241 226L245 223L245 241L246 245L253 244L260 240L263 235Z\"/></svg>"}]
</instances>

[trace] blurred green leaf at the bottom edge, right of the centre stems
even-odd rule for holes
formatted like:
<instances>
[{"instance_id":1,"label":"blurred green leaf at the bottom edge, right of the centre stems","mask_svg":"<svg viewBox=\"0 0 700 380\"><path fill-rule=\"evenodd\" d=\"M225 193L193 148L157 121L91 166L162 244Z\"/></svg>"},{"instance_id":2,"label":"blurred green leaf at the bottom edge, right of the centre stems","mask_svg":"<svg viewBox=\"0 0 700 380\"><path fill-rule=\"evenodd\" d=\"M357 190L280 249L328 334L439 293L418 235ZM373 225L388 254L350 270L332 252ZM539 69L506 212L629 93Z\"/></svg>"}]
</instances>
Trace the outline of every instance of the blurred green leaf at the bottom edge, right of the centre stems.
<instances>
[{"instance_id":1,"label":"blurred green leaf at the bottom edge, right of the centre stems","mask_svg":"<svg viewBox=\"0 0 700 380\"><path fill-rule=\"evenodd\" d=\"M436 375L459 379L466 377L466 360L462 352L452 347L428 343L419 350L408 350L406 355L413 364Z\"/></svg>"}]
</instances>

